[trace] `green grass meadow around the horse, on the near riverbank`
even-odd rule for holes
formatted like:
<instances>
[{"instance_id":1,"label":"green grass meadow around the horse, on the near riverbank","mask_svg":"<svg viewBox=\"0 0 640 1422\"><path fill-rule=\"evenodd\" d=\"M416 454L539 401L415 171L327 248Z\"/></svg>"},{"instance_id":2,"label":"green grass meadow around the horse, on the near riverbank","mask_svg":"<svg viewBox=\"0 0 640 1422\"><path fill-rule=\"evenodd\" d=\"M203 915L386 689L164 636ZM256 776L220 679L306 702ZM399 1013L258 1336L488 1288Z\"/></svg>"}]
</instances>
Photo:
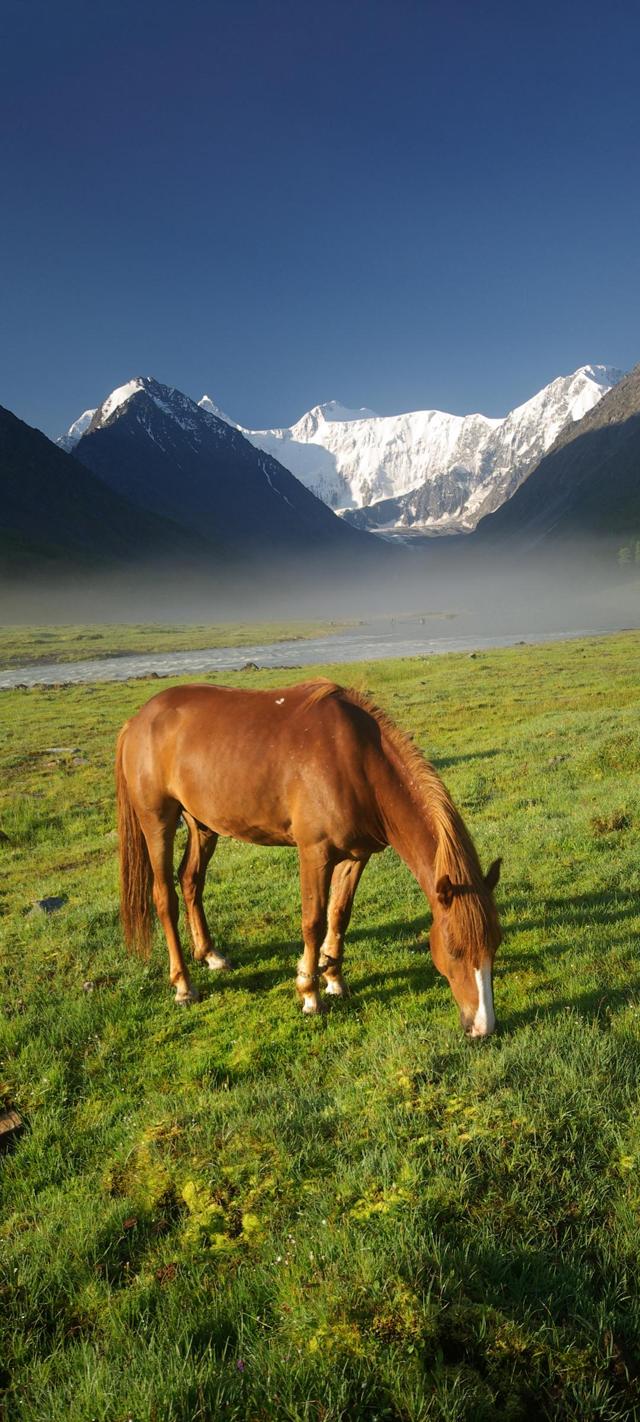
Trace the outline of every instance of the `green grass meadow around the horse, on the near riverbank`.
<instances>
[{"instance_id":1,"label":"green grass meadow around the horse, on the near riverbank","mask_svg":"<svg viewBox=\"0 0 640 1422\"><path fill-rule=\"evenodd\" d=\"M3 693L11 1422L640 1415L640 634L319 670L503 856L501 1031L464 1038L391 852L309 1020L296 855L222 843L236 970L178 1010L118 929L112 744L158 683Z\"/></svg>"}]
</instances>

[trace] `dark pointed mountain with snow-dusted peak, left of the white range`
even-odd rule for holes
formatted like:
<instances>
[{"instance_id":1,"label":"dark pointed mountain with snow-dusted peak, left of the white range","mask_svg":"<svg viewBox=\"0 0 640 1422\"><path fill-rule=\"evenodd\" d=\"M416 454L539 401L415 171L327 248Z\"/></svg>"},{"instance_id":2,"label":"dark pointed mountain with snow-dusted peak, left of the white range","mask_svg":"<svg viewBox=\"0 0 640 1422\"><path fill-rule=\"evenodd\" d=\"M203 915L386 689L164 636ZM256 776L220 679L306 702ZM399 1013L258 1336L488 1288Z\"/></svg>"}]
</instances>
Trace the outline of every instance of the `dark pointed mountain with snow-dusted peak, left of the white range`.
<instances>
[{"instance_id":1,"label":"dark pointed mountain with snow-dusted peak, left of the white range","mask_svg":"<svg viewBox=\"0 0 640 1422\"><path fill-rule=\"evenodd\" d=\"M149 377L104 401L75 458L118 493L232 556L324 547L348 555L373 545L238 429Z\"/></svg>"}]
</instances>

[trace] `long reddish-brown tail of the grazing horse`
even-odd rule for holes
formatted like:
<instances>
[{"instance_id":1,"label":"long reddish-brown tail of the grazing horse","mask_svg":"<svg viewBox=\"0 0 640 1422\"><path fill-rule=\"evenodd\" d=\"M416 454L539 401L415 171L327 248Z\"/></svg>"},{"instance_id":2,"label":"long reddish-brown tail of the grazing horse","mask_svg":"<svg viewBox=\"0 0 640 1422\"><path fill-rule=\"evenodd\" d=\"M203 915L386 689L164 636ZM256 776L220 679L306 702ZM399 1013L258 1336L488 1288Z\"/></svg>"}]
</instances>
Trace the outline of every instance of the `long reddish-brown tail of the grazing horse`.
<instances>
[{"instance_id":1,"label":"long reddish-brown tail of the grazing horse","mask_svg":"<svg viewBox=\"0 0 640 1422\"><path fill-rule=\"evenodd\" d=\"M129 788L122 765L122 751L127 725L118 735L115 748L115 792L118 798L118 840L119 840L119 917L127 947L135 948L148 958L151 951L151 872L146 840L139 819L131 803Z\"/></svg>"}]
</instances>

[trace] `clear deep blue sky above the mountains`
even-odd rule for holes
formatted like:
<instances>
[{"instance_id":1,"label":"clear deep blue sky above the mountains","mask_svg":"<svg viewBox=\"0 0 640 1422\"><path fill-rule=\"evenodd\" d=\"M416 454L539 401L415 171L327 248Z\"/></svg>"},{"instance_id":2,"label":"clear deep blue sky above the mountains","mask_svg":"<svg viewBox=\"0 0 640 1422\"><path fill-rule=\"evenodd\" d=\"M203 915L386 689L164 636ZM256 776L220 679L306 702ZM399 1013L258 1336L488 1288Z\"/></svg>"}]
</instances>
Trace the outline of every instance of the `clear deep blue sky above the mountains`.
<instances>
[{"instance_id":1,"label":"clear deep blue sky above the mountains","mask_svg":"<svg viewBox=\"0 0 640 1422\"><path fill-rule=\"evenodd\" d=\"M640 360L640 10L3 0L0 404L503 414Z\"/></svg>"}]
</instances>

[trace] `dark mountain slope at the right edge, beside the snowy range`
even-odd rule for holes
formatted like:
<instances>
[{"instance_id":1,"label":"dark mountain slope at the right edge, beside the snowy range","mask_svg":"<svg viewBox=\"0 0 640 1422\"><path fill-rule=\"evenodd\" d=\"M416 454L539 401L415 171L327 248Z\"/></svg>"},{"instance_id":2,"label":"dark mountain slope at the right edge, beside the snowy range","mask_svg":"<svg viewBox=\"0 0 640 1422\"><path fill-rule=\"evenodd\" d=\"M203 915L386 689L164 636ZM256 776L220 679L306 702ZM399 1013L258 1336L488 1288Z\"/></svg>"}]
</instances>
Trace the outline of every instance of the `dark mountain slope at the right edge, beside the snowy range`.
<instances>
[{"instance_id":1,"label":"dark mountain slope at the right edge, beside the snowy range","mask_svg":"<svg viewBox=\"0 0 640 1422\"><path fill-rule=\"evenodd\" d=\"M496 513L474 547L538 547L596 538L640 538L640 365L570 425Z\"/></svg>"}]
</instances>

